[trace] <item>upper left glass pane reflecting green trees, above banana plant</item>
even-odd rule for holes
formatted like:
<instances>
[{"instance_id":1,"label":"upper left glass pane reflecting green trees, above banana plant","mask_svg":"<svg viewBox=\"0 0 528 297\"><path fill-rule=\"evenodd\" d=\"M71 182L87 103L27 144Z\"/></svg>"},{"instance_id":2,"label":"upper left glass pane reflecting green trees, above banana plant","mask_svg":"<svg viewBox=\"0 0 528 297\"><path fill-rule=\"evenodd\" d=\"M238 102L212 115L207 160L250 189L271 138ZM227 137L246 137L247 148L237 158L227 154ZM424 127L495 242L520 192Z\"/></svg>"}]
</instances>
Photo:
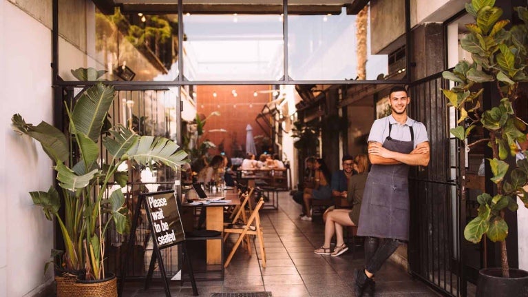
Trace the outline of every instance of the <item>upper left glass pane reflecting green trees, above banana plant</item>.
<instances>
[{"instance_id":1,"label":"upper left glass pane reflecting green trees, above banana plant","mask_svg":"<svg viewBox=\"0 0 528 297\"><path fill-rule=\"evenodd\" d=\"M106 70L113 81L178 79L178 14L104 14L94 5L59 5L59 75L70 70ZM72 21L75 19L75 21ZM93 80L93 79L90 79Z\"/></svg>"}]
</instances>

